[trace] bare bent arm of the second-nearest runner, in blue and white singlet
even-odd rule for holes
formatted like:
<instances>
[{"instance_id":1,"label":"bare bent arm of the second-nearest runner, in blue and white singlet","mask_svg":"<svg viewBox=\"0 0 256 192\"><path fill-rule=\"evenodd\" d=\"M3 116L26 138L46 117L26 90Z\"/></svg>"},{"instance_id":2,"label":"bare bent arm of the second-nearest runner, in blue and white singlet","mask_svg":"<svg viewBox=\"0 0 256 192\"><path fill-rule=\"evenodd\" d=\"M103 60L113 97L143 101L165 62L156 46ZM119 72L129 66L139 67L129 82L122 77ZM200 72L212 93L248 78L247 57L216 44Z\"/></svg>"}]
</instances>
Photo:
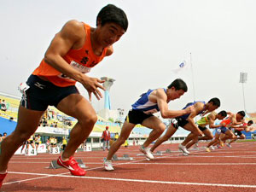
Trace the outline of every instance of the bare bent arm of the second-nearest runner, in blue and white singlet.
<instances>
[{"instance_id":1,"label":"bare bent arm of the second-nearest runner, in blue and white singlet","mask_svg":"<svg viewBox=\"0 0 256 192\"><path fill-rule=\"evenodd\" d=\"M175 117L182 116L183 114L187 114L187 113L190 113L191 111L193 111L193 108L186 108L186 109L177 110L177 111L169 110L165 90L157 89L155 91L156 91L156 93L154 94L154 96L152 96L153 98L150 98L150 96L149 96L149 100L152 99L152 100L150 100L152 102L154 99L156 100L158 108L160 109L162 118L165 118L165 119L175 118Z\"/></svg>"}]
</instances>

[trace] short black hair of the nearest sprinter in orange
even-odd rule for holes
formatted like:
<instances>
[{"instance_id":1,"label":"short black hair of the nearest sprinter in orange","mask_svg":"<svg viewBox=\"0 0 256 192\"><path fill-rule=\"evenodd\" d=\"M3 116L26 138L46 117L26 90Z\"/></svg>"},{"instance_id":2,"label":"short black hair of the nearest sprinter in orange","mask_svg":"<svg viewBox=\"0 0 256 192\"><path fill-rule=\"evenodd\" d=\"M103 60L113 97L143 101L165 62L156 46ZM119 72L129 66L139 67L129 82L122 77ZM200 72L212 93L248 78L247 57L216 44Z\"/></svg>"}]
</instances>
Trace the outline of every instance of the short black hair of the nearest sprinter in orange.
<instances>
[{"instance_id":1,"label":"short black hair of the nearest sprinter in orange","mask_svg":"<svg viewBox=\"0 0 256 192\"><path fill-rule=\"evenodd\" d=\"M100 10L96 18L96 26L98 26L98 21L101 22L102 26L110 22L116 23L121 26L125 32L128 28L128 20L125 12L113 4L108 4Z\"/></svg>"}]
</instances>

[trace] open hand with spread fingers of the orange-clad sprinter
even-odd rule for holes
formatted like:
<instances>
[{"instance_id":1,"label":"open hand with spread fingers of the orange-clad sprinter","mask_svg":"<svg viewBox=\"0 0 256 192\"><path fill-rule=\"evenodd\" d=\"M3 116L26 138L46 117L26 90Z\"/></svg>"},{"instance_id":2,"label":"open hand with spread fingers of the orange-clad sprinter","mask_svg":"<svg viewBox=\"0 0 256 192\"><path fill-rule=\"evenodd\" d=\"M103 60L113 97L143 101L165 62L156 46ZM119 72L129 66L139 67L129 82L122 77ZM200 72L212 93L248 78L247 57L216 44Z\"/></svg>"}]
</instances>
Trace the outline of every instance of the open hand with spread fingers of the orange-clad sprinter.
<instances>
[{"instance_id":1,"label":"open hand with spread fingers of the orange-clad sprinter","mask_svg":"<svg viewBox=\"0 0 256 192\"><path fill-rule=\"evenodd\" d=\"M96 96L97 100L100 100L102 98L102 93L100 90L98 90L98 88L105 90L105 88L102 86L102 83L104 82L104 80L89 77L87 77L83 82L81 82L84 85L84 88L88 91L90 102L91 93L93 93Z\"/></svg>"}]
</instances>

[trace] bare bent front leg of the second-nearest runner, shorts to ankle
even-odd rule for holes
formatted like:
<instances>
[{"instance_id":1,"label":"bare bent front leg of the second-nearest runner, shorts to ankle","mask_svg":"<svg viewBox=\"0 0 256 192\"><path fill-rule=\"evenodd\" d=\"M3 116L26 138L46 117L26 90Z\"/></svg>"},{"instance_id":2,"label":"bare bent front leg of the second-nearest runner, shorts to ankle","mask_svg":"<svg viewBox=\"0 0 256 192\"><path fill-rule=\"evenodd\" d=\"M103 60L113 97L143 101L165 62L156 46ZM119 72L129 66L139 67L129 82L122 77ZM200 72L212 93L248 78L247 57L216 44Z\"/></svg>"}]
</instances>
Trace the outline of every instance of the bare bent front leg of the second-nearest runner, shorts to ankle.
<instances>
[{"instance_id":1,"label":"bare bent front leg of the second-nearest runner, shorts to ankle","mask_svg":"<svg viewBox=\"0 0 256 192\"><path fill-rule=\"evenodd\" d=\"M163 122L155 116L144 119L142 125L153 129L153 131L150 132L147 140L143 143L143 148L147 148L148 145L154 142L155 139L160 137L160 135L166 129L166 125L163 124Z\"/></svg>"}]
</instances>

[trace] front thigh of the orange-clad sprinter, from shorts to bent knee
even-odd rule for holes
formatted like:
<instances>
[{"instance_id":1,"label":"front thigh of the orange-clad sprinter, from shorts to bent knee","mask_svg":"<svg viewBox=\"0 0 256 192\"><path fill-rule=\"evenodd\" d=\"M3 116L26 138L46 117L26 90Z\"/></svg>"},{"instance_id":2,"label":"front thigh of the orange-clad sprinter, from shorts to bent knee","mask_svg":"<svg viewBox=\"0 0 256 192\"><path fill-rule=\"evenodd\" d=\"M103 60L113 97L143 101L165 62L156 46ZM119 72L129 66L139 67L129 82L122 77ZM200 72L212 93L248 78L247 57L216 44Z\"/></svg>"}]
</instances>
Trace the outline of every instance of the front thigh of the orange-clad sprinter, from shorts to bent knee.
<instances>
[{"instance_id":1,"label":"front thigh of the orange-clad sprinter, from shorts to bent knee","mask_svg":"<svg viewBox=\"0 0 256 192\"><path fill-rule=\"evenodd\" d=\"M79 94L71 94L65 97L61 102L59 102L57 108L61 112L79 120L83 120L91 115L96 115L96 112L90 105L90 102L88 102L84 96Z\"/></svg>"}]
</instances>

